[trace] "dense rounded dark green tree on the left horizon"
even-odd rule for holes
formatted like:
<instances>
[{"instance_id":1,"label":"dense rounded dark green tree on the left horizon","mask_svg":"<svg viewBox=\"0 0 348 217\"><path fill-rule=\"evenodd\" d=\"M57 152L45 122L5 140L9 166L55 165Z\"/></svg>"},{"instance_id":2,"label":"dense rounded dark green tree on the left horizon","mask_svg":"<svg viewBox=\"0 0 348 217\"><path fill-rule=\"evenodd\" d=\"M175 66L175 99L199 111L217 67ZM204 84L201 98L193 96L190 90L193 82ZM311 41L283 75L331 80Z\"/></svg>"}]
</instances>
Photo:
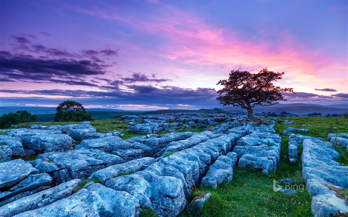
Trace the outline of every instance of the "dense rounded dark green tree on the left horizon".
<instances>
[{"instance_id":1,"label":"dense rounded dark green tree on the left horizon","mask_svg":"<svg viewBox=\"0 0 348 217\"><path fill-rule=\"evenodd\" d=\"M84 106L81 103L67 100L62 102L56 108L54 121L92 121L92 117L86 113Z\"/></svg>"}]
</instances>

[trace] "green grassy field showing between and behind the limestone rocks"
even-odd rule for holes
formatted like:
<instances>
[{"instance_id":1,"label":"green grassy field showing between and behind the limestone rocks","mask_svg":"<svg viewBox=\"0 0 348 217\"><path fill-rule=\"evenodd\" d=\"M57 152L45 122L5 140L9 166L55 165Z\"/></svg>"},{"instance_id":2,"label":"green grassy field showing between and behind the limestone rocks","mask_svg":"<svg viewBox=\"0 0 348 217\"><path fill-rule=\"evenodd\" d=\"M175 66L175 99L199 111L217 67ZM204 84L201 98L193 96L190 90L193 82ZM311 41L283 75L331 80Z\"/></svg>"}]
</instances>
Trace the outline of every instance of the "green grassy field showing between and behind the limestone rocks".
<instances>
[{"instance_id":1,"label":"green grassy field showing between and behind the limestone rocks","mask_svg":"<svg viewBox=\"0 0 348 217\"><path fill-rule=\"evenodd\" d=\"M266 118L271 119L271 118ZM191 193L188 202L194 197L203 193L211 193L212 198L204 204L202 211L185 209L180 217L311 217L310 211L311 198L306 189L293 195L285 195L273 191L273 181L283 178L292 178L298 180L299 185L304 185L302 180L302 165L300 156L302 153L301 145L298 148L299 158L294 164L290 164L287 156L288 137L282 136L281 133L287 127L306 128L309 133L303 135L311 137L321 137L327 141L328 133L348 133L348 119L344 117L293 117L278 118L278 120L287 119L293 121L292 125L281 125L276 122L274 129L280 134L281 154L277 170L270 175L264 175L261 171L251 168L234 169L234 177L230 183L222 183L217 189L196 186ZM33 123L29 123L33 124ZM38 123L35 123L38 124ZM64 125L72 123L54 123L43 122L43 125ZM141 136L131 133L124 127L128 124L121 119L108 119L92 121L91 124L97 132L105 133L106 131L117 130L124 134L122 139L128 139L134 136ZM28 124L22 124L20 127L26 127ZM305 126L303 126L305 125ZM183 131L201 132L201 128L184 129ZM168 133L168 131L159 132L159 134ZM344 148L336 147L341 155L339 162L342 165L348 165L347 151ZM143 209L142 217L154 217L156 214L151 209Z\"/></svg>"}]
</instances>

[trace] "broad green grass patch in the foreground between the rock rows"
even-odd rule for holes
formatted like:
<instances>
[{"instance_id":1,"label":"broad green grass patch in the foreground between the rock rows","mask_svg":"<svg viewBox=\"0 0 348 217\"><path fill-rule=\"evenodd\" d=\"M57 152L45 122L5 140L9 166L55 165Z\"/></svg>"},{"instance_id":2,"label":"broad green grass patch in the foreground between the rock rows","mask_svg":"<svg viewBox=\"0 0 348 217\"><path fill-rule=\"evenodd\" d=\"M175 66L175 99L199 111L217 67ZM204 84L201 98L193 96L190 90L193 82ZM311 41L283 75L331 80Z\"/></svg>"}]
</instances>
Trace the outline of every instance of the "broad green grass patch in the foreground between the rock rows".
<instances>
[{"instance_id":1,"label":"broad green grass patch in the foreground between the rock rows","mask_svg":"<svg viewBox=\"0 0 348 217\"><path fill-rule=\"evenodd\" d=\"M180 217L311 217L310 196L306 190L294 195L273 191L274 176L264 175L253 169L234 169L230 183L222 183L217 189L198 187L189 202L203 193L211 193L201 212L185 209Z\"/></svg>"}]
</instances>

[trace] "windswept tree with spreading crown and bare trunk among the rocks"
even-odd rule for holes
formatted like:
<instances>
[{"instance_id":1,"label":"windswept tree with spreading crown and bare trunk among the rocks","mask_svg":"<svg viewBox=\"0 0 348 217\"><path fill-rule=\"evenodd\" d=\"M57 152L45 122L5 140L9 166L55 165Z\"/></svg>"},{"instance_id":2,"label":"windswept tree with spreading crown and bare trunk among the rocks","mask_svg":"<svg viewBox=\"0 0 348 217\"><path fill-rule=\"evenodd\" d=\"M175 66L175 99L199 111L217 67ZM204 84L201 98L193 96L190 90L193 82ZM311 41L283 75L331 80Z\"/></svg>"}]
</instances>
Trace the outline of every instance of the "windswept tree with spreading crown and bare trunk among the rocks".
<instances>
[{"instance_id":1,"label":"windswept tree with spreading crown and bare trunk among the rocks","mask_svg":"<svg viewBox=\"0 0 348 217\"><path fill-rule=\"evenodd\" d=\"M261 120L253 116L256 105L274 105L279 101L286 101L280 92L294 92L292 88L274 86L272 81L281 79L284 72L271 72L262 69L256 74L247 71L232 70L228 79L220 80L217 84L224 87L217 91L216 98L221 104L241 106L248 111L248 117L254 122Z\"/></svg>"}]
</instances>

